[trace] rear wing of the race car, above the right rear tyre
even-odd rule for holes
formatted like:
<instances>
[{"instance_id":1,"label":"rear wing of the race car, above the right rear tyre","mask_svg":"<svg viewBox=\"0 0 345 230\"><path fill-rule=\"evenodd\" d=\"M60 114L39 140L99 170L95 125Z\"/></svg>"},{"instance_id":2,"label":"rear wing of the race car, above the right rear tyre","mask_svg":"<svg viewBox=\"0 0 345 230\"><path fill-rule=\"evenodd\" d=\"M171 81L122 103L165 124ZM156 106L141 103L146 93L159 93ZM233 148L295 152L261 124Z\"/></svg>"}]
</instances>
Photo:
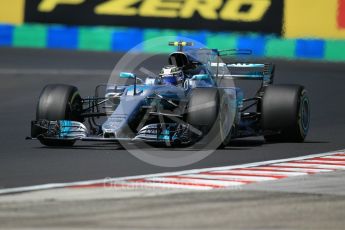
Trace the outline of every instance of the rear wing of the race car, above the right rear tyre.
<instances>
[{"instance_id":1,"label":"rear wing of the race car, above the right rear tyre","mask_svg":"<svg viewBox=\"0 0 345 230\"><path fill-rule=\"evenodd\" d=\"M215 77L240 80L261 80L263 85L273 83L274 64L211 63Z\"/></svg>"}]
</instances>

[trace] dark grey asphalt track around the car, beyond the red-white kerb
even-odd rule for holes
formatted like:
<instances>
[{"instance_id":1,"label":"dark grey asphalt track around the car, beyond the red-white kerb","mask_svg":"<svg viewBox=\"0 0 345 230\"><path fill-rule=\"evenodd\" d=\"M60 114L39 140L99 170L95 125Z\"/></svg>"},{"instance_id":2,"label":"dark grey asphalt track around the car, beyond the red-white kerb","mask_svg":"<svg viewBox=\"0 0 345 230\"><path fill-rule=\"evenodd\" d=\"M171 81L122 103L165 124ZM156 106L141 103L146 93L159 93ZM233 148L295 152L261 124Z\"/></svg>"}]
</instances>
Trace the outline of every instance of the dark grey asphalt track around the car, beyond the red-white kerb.
<instances>
[{"instance_id":1,"label":"dark grey asphalt track around the car, beyond the red-white kerb","mask_svg":"<svg viewBox=\"0 0 345 230\"><path fill-rule=\"evenodd\" d=\"M345 64L281 60L270 60L277 64L276 83L301 84L309 92L312 116L305 143L267 144L260 137L246 138L195 164L164 168L144 163L116 145L78 143L57 149L24 140L46 84L72 84L82 95L90 95L95 85L108 81L121 56L0 49L0 188L236 165L344 149ZM166 61L155 59L148 69L159 69Z\"/></svg>"}]
</instances>

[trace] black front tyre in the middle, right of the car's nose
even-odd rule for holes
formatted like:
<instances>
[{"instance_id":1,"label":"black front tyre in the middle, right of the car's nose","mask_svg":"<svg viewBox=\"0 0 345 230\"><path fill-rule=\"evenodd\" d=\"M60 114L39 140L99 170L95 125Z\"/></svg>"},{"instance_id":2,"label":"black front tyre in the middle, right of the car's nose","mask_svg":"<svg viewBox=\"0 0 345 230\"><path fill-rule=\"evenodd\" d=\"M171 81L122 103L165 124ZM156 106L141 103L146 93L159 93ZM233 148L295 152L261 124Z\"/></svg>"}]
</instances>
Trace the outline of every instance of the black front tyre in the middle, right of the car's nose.
<instances>
[{"instance_id":1,"label":"black front tyre in the middle, right of the car's nose","mask_svg":"<svg viewBox=\"0 0 345 230\"><path fill-rule=\"evenodd\" d=\"M208 149L223 147L225 138L221 138L221 94L216 88L195 88L191 92L187 122L203 133L196 147Z\"/></svg>"}]
</instances>

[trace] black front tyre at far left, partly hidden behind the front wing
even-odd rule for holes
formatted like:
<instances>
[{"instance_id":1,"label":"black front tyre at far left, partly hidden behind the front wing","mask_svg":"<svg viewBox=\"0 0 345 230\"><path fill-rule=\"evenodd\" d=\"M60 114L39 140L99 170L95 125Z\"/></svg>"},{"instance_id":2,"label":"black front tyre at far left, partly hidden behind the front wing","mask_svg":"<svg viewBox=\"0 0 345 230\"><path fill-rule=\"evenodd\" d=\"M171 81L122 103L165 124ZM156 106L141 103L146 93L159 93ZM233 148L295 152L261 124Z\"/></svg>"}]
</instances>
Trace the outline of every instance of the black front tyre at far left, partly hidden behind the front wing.
<instances>
[{"instance_id":1,"label":"black front tyre at far left, partly hidden behind the front wing","mask_svg":"<svg viewBox=\"0 0 345 230\"><path fill-rule=\"evenodd\" d=\"M80 121L82 99L78 89L70 85L47 85L41 92L36 110L36 120L71 120ZM46 146L72 146L74 140L40 139Z\"/></svg>"}]
</instances>

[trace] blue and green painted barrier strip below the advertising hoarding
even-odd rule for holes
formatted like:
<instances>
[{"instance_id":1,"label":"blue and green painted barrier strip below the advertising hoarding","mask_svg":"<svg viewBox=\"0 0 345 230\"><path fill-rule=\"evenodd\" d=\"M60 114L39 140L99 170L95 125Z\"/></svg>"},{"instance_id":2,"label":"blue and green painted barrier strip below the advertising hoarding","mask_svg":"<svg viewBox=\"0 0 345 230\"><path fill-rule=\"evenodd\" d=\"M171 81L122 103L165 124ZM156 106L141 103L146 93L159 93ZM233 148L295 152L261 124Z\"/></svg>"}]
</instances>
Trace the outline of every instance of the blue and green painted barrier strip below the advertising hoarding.
<instances>
[{"instance_id":1,"label":"blue and green painted barrier strip below the advertising hoarding","mask_svg":"<svg viewBox=\"0 0 345 230\"><path fill-rule=\"evenodd\" d=\"M283 39L273 35L229 32L143 29L130 27L73 27L64 25L0 24L0 46L75 49L127 52L173 51L172 47L154 47L146 43L152 38L169 36L178 40L187 37L218 49L251 49L257 57L345 61L345 40L317 38Z\"/></svg>"}]
</instances>

